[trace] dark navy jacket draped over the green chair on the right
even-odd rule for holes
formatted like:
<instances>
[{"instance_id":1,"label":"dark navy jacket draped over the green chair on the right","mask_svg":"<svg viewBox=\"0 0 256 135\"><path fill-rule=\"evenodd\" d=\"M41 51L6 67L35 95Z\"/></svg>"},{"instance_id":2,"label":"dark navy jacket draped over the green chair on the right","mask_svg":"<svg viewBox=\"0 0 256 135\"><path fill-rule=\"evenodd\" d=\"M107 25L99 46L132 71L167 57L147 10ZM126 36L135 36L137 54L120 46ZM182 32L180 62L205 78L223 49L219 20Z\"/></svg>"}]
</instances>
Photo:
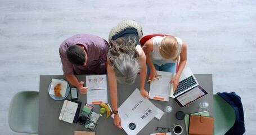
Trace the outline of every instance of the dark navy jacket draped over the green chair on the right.
<instances>
[{"instance_id":1,"label":"dark navy jacket draped over the green chair on the right","mask_svg":"<svg viewBox=\"0 0 256 135\"><path fill-rule=\"evenodd\" d=\"M245 126L244 126L244 110L242 109L242 102L241 97L236 95L235 92L227 93L227 92L218 92L219 96L221 96L224 100L230 104L236 113L236 120L225 135L229 134L244 134L245 133Z\"/></svg>"}]
</instances>

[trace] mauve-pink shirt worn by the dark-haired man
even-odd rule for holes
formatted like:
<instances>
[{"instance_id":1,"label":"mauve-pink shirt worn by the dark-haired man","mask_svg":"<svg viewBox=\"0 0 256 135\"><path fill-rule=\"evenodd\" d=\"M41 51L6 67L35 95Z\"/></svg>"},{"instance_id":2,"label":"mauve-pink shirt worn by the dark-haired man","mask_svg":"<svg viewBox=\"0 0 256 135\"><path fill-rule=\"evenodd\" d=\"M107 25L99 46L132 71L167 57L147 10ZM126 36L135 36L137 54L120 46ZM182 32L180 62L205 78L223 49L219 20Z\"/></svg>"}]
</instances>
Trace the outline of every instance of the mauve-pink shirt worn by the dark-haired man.
<instances>
[{"instance_id":1,"label":"mauve-pink shirt worn by the dark-haired man","mask_svg":"<svg viewBox=\"0 0 256 135\"><path fill-rule=\"evenodd\" d=\"M66 49L73 44L83 44L87 50L86 66L76 66L66 57ZM104 74L106 72L105 61L109 45L106 40L96 35L77 34L61 43L59 48L62 70L64 74Z\"/></svg>"}]
</instances>

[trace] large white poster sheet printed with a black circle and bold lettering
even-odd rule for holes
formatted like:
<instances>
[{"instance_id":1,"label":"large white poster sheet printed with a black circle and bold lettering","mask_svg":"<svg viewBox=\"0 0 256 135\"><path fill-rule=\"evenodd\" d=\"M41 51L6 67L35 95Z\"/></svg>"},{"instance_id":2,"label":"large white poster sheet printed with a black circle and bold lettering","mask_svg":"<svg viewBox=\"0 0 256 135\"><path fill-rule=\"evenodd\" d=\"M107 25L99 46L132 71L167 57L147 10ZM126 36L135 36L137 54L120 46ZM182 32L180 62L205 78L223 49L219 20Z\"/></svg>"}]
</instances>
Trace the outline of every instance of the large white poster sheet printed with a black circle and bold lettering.
<instances>
[{"instance_id":1,"label":"large white poster sheet printed with a black circle and bold lettering","mask_svg":"<svg viewBox=\"0 0 256 135\"><path fill-rule=\"evenodd\" d=\"M138 89L118 108L122 128L127 134L137 134L158 114L158 108L143 98Z\"/></svg>"}]
</instances>

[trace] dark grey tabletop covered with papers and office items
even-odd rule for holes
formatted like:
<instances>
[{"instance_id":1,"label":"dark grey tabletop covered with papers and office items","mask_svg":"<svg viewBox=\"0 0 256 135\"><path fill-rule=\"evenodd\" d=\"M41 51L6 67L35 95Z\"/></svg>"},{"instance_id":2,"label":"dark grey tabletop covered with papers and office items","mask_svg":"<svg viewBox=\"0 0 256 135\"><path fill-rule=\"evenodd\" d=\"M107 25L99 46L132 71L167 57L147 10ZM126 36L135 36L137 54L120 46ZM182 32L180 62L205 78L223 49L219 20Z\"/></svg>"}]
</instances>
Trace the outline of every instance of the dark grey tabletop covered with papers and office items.
<instances>
[{"instance_id":1,"label":"dark grey tabletop covered with papers and office items","mask_svg":"<svg viewBox=\"0 0 256 135\"><path fill-rule=\"evenodd\" d=\"M76 75L79 81L86 82L86 75ZM193 102L186 107L179 107L176 101L170 98L169 102L150 100L156 107L161 110L164 110L164 107L167 105L172 106L173 111L171 113L165 113L160 120L154 118L150 121L149 124L146 125L138 134L150 134L150 133L158 133L155 131L156 127L168 127L170 128L170 132L173 133L173 124L179 124L183 127L183 133L185 132L185 123L184 120L177 120L175 114L177 111L183 111L184 113L194 113L196 111L204 111L199 108L199 102L208 101L209 107L208 110L210 116L213 116L213 82L212 82L212 74L195 74L199 85L203 87L208 95L200 98L199 100ZM41 75L40 76L40 96L39 96L39 135L51 135L51 134L74 134L74 131L86 131L85 128L80 124L70 124L59 120L59 115L61 111L61 107L63 105L64 100L56 101L53 100L48 93L48 86L51 83L52 78L54 79L65 79L63 75ZM66 80L66 79L65 79ZM118 106L122 105L122 103L131 95L134 89L139 88L140 81L139 77L136 78L136 82L133 85L125 85L118 84ZM108 84L107 84L107 87ZM149 91L149 83L145 84L146 91ZM79 93L79 92L78 92ZM82 102L82 106L86 103L86 95L78 95L78 101ZM70 95L67 97L70 99ZM110 95L108 91L108 100L110 102ZM93 111L96 113L100 113L100 105L92 105ZM98 121L97 127L95 129L97 135L100 134L126 134L123 129L118 129L113 123L112 118L106 118L106 114L101 116Z\"/></svg>"}]
</instances>

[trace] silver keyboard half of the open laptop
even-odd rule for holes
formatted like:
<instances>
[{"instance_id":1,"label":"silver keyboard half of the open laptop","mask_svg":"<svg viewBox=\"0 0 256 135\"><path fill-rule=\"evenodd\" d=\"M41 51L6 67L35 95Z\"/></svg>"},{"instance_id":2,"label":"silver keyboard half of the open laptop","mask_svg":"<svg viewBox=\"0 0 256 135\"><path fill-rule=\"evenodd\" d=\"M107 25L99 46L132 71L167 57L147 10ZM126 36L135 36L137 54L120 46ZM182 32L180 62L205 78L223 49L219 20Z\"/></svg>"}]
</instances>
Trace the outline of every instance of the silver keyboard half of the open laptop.
<instances>
[{"instance_id":1,"label":"silver keyboard half of the open laptop","mask_svg":"<svg viewBox=\"0 0 256 135\"><path fill-rule=\"evenodd\" d=\"M182 93L189 91L190 89L198 86L198 82L192 73L190 68L186 68L183 70L181 77L179 77L179 84L177 86L176 91L173 93L173 85L171 86L170 97L176 98Z\"/></svg>"}]
</instances>

